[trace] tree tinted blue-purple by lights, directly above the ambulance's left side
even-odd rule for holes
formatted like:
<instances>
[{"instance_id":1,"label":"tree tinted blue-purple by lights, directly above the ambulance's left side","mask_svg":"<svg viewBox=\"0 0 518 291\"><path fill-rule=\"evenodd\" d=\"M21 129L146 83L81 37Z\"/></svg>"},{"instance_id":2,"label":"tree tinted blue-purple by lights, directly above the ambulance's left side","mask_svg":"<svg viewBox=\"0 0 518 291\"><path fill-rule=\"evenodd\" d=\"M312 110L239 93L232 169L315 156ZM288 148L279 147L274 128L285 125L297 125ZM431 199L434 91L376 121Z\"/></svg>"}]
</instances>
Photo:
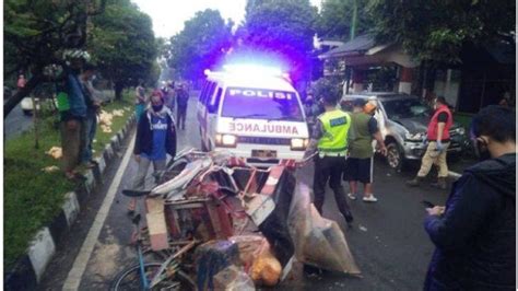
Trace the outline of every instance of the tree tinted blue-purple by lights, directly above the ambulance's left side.
<instances>
[{"instance_id":1,"label":"tree tinted blue-purple by lights, directly above the ambulance's left side","mask_svg":"<svg viewBox=\"0 0 518 291\"><path fill-rule=\"evenodd\" d=\"M216 10L207 9L185 22L184 30L170 38L168 65L179 75L196 80L213 68L232 44L232 21Z\"/></svg>"}]
</instances>

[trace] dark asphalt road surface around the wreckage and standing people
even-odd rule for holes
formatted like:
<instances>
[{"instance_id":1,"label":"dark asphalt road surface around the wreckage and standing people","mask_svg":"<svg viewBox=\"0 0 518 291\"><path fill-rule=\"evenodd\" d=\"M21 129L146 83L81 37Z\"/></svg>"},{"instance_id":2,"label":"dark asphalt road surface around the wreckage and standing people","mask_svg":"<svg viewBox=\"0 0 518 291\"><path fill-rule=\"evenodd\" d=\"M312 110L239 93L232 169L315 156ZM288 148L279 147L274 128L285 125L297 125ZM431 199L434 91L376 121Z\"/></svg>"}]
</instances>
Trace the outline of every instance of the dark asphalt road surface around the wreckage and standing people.
<instances>
[{"instance_id":1,"label":"dark asphalt road surface around the wreckage and standing people","mask_svg":"<svg viewBox=\"0 0 518 291\"><path fill-rule=\"evenodd\" d=\"M179 149L199 147L198 125L195 120L196 98L189 103L187 130L178 131ZM123 152L120 152L122 156ZM91 206L80 214L78 228L60 244L67 245L50 263L44 275L42 290L61 290L76 255L86 237L92 221L118 170L120 159L108 168L104 185L91 195ZM447 191L429 186L414 189L404 186L404 181L414 175L415 168L395 173L382 161L375 162L375 195L379 201L365 203L361 199L350 201L355 223L345 229L330 190L327 191L323 217L339 222L344 231L351 252L362 271L361 278L340 273L303 276L301 280L287 281L279 290L419 290L422 288L433 245L423 230L425 210L421 200L443 205ZM119 193L130 188L137 172L137 163L130 161L118 194L90 255L80 290L106 290L115 275L137 264L136 251L129 246L131 223L126 214L128 199ZM297 173L299 181L313 184L313 166ZM151 181L150 181L151 182ZM345 187L348 190L349 188Z\"/></svg>"}]
</instances>

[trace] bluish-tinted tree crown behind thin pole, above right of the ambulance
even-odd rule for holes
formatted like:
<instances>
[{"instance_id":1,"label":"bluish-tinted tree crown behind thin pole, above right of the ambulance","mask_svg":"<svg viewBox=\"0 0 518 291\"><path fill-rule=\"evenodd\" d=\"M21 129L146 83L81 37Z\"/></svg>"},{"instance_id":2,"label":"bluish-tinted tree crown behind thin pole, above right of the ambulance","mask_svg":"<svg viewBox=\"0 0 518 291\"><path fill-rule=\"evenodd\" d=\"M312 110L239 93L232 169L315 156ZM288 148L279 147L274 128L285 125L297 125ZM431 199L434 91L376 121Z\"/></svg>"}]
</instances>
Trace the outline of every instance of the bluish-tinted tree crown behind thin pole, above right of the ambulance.
<instances>
[{"instance_id":1,"label":"bluish-tinted tree crown behind thin pole, above right of the ambulance","mask_svg":"<svg viewBox=\"0 0 518 291\"><path fill-rule=\"evenodd\" d=\"M366 9L368 0L323 0L316 21L318 37L350 40L355 2L357 8L355 34L367 32L370 24Z\"/></svg>"}]
</instances>

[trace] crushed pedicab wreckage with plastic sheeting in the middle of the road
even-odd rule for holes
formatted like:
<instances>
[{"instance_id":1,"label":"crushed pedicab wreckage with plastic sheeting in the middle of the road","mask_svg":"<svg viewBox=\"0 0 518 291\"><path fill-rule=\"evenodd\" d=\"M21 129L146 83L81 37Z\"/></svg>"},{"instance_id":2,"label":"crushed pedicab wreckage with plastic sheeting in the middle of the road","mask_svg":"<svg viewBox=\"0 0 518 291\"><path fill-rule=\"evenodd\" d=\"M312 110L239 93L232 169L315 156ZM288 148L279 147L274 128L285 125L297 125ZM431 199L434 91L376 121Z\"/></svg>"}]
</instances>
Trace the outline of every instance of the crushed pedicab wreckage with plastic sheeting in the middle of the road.
<instances>
[{"instance_id":1,"label":"crushed pedicab wreckage with plastic sheeting in the middle of the road","mask_svg":"<svg viewBox=\"0 0 518 291\"><path fill-rule=\"evenodd\" d=\"M255 290L294 279L294 264L360 275L344 234L310 203L296 166L178 153L156 187L123 190L143 198L146 226L136 224L139 264L119 272L111 290Z\"/></svg>"}]
</instances>

